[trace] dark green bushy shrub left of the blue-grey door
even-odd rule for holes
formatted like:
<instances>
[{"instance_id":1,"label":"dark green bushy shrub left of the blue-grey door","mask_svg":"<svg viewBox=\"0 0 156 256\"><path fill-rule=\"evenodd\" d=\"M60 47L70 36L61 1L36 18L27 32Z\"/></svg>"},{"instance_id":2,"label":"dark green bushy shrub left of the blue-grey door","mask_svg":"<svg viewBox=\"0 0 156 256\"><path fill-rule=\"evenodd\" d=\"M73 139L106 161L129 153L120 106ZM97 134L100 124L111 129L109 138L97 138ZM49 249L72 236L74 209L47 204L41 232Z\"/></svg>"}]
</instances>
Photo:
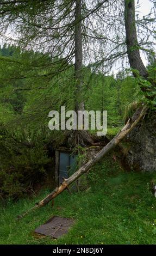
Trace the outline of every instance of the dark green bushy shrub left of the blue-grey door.
<instances>
[{"instance_id":1,"label":"dark green bushy shrub left of the blue-grey door","mask_svg":"<svg viewBox=\"0 0 156 256\"><path fill-rule=\"evenodd\" d=\"M17 199L45 180L45 167L50 159L42 134L34 137L23 132L18 135L2 126L0 142L1 197Z\"/></svg>"}]
</instances>

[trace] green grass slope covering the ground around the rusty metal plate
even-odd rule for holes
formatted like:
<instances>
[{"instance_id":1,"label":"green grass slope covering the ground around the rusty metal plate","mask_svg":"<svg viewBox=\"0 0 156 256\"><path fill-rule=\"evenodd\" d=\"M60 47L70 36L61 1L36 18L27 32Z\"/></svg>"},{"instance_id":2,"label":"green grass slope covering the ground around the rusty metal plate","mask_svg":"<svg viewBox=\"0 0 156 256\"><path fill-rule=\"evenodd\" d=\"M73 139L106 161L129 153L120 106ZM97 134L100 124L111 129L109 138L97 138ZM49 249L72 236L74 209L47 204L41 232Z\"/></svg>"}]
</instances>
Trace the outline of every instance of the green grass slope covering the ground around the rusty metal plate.
<instances>
[{"instance_id":1,"label":"green grass slope covering the ground around the rusty metal plate","mask_svg":"<svg viewBox=\"0 0 156 256\"><path fill-rule=\"evenodd\" d=\"M89 189L63 192L51 203L20 221L15 218L46 196L8 202L1 207L1 244L156 244L156 199L149 190L154 174L126 173L112 156L88 175ZM37 239L33 230L53 215L74 218L67 235Z\"/></svg>"}]
</instances>

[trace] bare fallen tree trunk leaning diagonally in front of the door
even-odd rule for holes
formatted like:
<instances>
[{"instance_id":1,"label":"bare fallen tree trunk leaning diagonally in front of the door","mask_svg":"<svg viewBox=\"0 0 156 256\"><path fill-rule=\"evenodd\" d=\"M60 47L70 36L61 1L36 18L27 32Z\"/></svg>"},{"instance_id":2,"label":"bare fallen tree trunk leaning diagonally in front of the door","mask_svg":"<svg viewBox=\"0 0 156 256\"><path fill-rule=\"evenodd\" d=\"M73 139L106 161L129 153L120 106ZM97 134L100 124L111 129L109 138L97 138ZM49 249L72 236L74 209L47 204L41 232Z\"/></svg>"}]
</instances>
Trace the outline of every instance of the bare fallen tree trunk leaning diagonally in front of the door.
<instances>
[{"instance_id":1,"label":"bare fallen tree trunk leaning diagonally in front of the door","mask_svg":"<svg viewBox=\"0 0 156 256\"><path fill-rule=\"evenodd\" d=\"M77 172L72 174L68 179L64 179L63 183L60 184L59 187L55 188L55 190L48 194L46 198L41 200L38 204L36 204L33 208L29 209L28 211L24 212L22 215L18 216L18 218L22 218L26 216L29 212L39 209L40 207L48 204L51 200L57 197L61 192L65 189L68 189L68 186L71 185L75 180L77 180L81 175L86 173L90 168L97 163L99 160L102 159L111 149L115 148L121 140L126 137L126 135L139 123L141 118L146 114L147 111L146 106L141 106L136 110L132 119L129 119L127 124L123 127L123 129L118 132L118 134L95 156L92 157L87 163L84 164Z\"/></svg>"}]
</instances>

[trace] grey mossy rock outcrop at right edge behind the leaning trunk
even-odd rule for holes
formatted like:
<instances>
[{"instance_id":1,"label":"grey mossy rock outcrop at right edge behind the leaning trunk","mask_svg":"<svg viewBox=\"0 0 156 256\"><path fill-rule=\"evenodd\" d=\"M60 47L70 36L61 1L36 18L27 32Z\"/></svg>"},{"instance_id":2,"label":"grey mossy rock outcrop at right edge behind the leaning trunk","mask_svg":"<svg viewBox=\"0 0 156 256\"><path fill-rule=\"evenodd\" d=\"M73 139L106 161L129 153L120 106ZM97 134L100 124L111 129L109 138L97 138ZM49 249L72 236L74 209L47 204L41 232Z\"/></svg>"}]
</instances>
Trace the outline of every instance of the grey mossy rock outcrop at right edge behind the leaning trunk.
<instances>
[{"instance_id":1,"label":"grey mossy rock outcrop at right edge behind the leaning trunk","mask_svg":"<svg viewBox=\"0 0 156 256\"><path fill-rule=\"evenodd\" d=\"M146 117L127 136L126 164L132 170L156 172L156 114Z\"/></svg>"}]
</instances>

